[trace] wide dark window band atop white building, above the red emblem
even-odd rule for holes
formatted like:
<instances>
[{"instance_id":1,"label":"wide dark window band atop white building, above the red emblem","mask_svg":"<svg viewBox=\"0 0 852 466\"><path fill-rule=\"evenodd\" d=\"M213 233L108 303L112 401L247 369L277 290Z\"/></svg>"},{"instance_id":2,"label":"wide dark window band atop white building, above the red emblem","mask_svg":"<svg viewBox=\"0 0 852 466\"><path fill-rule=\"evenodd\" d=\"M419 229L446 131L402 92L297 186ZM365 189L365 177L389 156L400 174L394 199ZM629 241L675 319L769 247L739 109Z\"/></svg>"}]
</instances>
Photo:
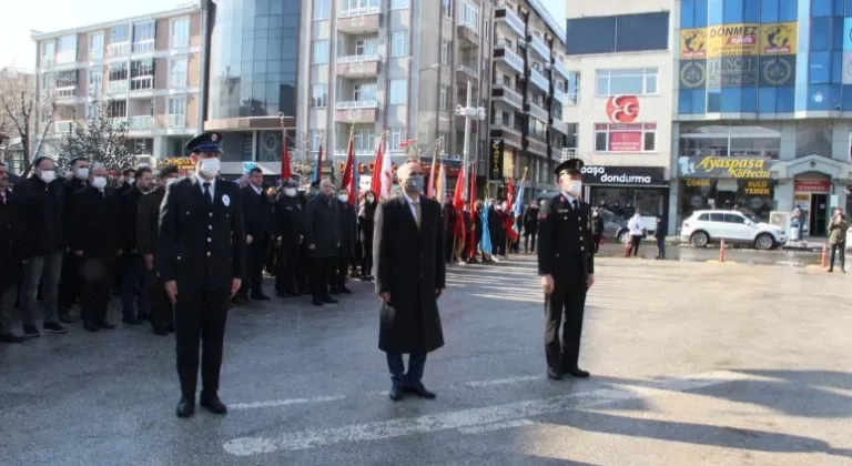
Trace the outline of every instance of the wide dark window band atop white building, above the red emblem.
<instances>
[{"instance_id":1,"label":"wide dark window band atop white building, above the red emblem","mask_svg":"<svg viewBox=\"0 0 852 466\"><path fill-rule=\"evenodd\" d=\"M566 28L569 55L668 50L669 12L571 18Z\"/></svg>"}]
</instances>

